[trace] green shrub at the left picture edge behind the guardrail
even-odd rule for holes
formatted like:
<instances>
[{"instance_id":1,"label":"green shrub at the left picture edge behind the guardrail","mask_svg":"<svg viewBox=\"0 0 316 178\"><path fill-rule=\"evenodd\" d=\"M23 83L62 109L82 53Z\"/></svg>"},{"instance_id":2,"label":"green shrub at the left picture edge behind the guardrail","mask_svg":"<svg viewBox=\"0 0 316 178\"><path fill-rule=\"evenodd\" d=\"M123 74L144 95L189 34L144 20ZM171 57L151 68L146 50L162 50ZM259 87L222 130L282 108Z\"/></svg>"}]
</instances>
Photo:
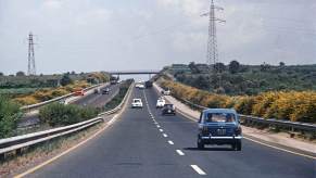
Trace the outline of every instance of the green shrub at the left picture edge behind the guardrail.
<instances>
[{"instance_id":1,"label":"green shrub at the left picture edge behind the guardrail","mask_svg":"<svg viewBox=\"0 0 316 178\"><path fill-rule=\"evenodd\" d=\"M0 96L0 138L11 137L17 127L22 112L20 106L7 97Z\"/></svg>"}]
</instances>

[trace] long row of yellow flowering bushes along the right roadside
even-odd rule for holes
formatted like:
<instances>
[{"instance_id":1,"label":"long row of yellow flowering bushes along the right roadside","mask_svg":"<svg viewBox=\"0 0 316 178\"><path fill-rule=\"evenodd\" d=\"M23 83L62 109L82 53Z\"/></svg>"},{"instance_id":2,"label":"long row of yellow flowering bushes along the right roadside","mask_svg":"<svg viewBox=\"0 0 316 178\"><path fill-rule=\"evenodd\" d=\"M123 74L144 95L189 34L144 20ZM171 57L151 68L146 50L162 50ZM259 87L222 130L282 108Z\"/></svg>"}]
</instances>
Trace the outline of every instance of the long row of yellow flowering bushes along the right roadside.
<instances>
[{"instance_id":1,"label":"long row of yellow flowering bushes along the right roadside","mask_svg":"<svg viewBox=\"0 0 316 178\"><path fill-rule=\"evenodd\" d=\"M258 96L215 94L172 80L159 80L176 98L207 107L235 107L238 113L264 118L316 123L316 91L269 91Z\"/></svg>"}]
</instances>

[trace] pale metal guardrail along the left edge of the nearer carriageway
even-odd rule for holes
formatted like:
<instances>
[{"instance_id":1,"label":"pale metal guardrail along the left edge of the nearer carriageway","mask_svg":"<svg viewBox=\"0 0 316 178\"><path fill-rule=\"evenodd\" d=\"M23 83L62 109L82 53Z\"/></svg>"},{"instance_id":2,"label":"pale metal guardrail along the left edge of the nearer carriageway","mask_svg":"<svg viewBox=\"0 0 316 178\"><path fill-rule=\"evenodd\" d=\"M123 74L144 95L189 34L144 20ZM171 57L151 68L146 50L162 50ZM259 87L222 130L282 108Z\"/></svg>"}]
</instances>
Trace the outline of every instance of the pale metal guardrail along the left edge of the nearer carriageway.
<instances>
[{"instance_id":1,"label":"pale metal guardrail along the left edge of the nearer carriageway","mask_svg":"<svg viewBox=\"0 0 316 178\"><path fill-rule=\"evenodd\" d=\"M25 149L30 145L35 145L45 141L52 140L58 137L66 136L66 135L73 134L78 130L83 130L85 128L88 128L90 126L93 126L98 123L103 122L103 118L101 116L116 113L123 107L123 105L128 99L131 88L132 88L132 84L129 86L122 102L115 109L101 113L96 118L77 123L74 125L69 125L69 126L45 130L45 131L38 131L38 132L27 134L23 136L0 139L0 158L4 160L7 153L11 153L14 151L15 153L21 153L22 149Z\"/></svg>"}]
</instances>

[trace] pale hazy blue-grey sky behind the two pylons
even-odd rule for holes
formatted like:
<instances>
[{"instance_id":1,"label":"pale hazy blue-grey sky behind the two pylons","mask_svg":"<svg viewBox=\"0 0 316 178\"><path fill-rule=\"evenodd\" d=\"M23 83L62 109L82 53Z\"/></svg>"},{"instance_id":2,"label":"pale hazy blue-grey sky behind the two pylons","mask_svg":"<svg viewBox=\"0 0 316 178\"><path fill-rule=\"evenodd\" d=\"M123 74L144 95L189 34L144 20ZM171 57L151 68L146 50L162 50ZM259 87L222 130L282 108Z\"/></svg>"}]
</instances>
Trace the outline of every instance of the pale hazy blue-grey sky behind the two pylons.
<instances>
[{"instance_id":1,"label":"pale hazy blue-grey sky behind the two pylons","mask_svg":"<svg viewBox=\"0 0 316 178\"><path fill-rule=\"evenodd\" d=\"M315 0L217 0L219 60L316 63ZM0 72L162 68L206 61L207 0L0 0Z\"/></svg>"}]
</instances>

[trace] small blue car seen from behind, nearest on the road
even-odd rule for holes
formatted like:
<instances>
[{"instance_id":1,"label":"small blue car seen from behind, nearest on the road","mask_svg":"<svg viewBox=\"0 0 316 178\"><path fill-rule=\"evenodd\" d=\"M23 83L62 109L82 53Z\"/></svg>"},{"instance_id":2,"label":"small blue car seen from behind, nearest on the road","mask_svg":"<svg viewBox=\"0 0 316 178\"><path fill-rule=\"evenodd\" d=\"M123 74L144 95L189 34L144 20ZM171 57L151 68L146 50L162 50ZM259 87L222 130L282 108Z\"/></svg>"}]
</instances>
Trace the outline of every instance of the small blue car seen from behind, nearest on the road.
<instances>
[{"instance_id":1,"label":"small blue car seen from behind, nearest on the road","mask_svg":"<svg viewBox=\"0 0 316 178\"><path fill-rule=\"evenodd\" d=\"M239 116L230 109L207 109L199 119L198 148L205 144L230 144L232 150L241 150L242 131Z\"/></svg>"}]
</instances>

